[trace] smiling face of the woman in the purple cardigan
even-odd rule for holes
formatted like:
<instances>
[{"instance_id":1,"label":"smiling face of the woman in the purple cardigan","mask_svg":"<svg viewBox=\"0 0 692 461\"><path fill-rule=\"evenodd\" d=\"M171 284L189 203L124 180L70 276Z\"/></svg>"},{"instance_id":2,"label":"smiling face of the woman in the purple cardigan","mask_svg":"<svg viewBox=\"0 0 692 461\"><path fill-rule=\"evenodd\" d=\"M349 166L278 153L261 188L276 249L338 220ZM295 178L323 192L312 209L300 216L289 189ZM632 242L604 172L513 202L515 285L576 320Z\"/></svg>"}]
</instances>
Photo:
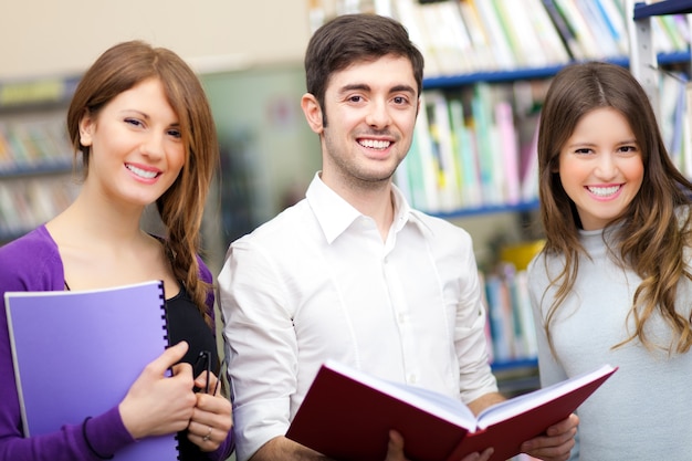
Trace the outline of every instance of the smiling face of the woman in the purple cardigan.
<instances>
[{"instance_id":1,"label":"smiling face of the woman in the purple cardigan","mask_svg":"<svg viewBox=\"0 0 692 461\"><path fill-rule=\"evenodd\" d=\"M120 93L95 116L86 114L80 142L91 148L85 187L113 201L153 203L185 165L178 116L158 78Z\"/></svg>"}]
</instances>

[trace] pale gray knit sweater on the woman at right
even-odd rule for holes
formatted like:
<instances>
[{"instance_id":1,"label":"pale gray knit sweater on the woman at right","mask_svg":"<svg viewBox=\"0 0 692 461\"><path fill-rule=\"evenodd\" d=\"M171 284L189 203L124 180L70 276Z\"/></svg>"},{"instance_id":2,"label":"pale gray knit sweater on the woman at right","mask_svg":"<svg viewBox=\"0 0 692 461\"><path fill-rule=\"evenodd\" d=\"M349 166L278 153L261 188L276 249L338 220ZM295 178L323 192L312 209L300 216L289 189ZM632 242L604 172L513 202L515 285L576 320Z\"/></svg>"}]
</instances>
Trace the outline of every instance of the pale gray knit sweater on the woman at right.
<instances>
[{"instance_id":1,"label":"pale gray knit sweater on the woman at right","mask_svg":"<svg viewBox=\"0 0 692 461\"><path fill-rule=\"evenodd\" d=\"M528 266L536 318L541 383L551 385L593 370L602 364L619 370L577 413L581 461L692 460L692 353L668 356L647 350L638 340L612 349L625 339L632 319L628 313L640 279L614 263L601 231L581 232L591 259L580 258L574 290L558 310L552 336L553 356L542 328L554 289L547 291L547 270L557 273L563 258L538 255ZM542 301L543 300L543 301ZM692 284L679 289L679 306L689 318ZM647 336L660 344L671 339L660 317L648 323Z\"/></svg>"}]
</instances>

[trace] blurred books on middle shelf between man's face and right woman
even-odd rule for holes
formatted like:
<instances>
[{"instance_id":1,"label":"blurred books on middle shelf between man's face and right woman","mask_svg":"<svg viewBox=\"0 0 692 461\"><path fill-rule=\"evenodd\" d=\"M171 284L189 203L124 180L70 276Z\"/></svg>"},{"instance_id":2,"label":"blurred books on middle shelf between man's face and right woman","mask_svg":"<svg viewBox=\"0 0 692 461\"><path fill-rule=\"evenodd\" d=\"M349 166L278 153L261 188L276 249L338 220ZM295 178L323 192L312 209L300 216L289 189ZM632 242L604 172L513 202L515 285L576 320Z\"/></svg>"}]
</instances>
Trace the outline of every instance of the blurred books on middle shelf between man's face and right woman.
<instances>
[{"instance_id":1,"label":"blurred books on middle shelf between man's face and right woman","mask_svg":"<svg viewBox=\"0 0 692 461\"><path fill-rule=\"evenodd\" d=\"M431 213L537 200L536 130L546 81L426 91L396 182Z\"/></svg>"}]
</instances>

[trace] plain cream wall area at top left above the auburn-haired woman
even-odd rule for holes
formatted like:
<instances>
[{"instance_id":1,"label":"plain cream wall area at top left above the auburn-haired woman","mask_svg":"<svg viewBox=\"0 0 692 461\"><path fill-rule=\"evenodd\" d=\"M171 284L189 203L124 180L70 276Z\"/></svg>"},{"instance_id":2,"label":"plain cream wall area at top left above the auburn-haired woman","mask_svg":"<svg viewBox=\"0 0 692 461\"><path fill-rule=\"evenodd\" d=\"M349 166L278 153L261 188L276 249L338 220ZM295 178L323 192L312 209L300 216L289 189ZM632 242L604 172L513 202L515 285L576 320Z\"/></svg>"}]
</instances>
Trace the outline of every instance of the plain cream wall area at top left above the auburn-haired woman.
<instances>
[{"instance_id":1,"label":"plain cream wall area at top left above the auburn-haired woman","mask_svg":"<svg viewBox=\"0 0 692 461\"><path fill-rule=\"evenodd\" d=\"M0 0L0 82L81 73L132 39L169 48L200 72L301 62L307 1Z\"/></svg>"}]
</instances>

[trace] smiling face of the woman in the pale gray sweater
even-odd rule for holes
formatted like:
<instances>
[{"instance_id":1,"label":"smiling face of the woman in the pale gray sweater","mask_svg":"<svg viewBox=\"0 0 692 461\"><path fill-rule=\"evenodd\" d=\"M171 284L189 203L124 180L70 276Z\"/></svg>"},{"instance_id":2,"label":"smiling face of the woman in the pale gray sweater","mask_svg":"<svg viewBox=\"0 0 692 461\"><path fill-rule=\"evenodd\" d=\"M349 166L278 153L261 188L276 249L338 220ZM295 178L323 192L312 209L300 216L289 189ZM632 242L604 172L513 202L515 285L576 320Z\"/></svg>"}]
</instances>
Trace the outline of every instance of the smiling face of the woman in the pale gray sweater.
<instances>
[{"instance_id":1,"label":"smiling face of the woman in the pale gray sweater","mask_svg":"<svg viewBox=\"0 0 692 461\"><path fill-rule=\"evenodd\" d=\"M602 229L631 203L643 180L637 138L622 114L596 108L581 117L559 154L559 178L585 230Z\"/></svg>"}]
</instances>

